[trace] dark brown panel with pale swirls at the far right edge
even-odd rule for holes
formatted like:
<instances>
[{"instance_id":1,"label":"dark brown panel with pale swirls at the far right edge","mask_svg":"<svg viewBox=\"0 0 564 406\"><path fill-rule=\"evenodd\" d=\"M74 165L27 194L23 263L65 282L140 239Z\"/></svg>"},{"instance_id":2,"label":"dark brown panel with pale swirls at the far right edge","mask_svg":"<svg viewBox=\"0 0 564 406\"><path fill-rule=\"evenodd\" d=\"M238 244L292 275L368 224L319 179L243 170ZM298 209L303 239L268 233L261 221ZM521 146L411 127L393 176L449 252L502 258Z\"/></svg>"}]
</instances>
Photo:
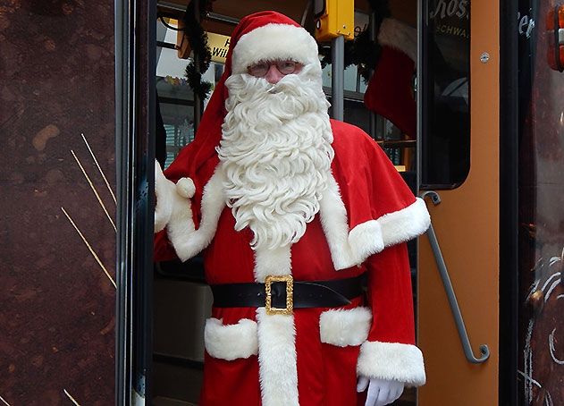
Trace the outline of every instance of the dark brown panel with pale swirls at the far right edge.
<instances>
[{"instance_id":1,"label":"dark brown panel with pale swirls at the far right edge","mask_svg":"<svg viewBox=\"0 0 564 406\"><path fill-rule=\"evenodd\" d=\"M520 3L519 404L564 404L564 72L551 69L554 0Z\"/></svg>"}]
</instances>

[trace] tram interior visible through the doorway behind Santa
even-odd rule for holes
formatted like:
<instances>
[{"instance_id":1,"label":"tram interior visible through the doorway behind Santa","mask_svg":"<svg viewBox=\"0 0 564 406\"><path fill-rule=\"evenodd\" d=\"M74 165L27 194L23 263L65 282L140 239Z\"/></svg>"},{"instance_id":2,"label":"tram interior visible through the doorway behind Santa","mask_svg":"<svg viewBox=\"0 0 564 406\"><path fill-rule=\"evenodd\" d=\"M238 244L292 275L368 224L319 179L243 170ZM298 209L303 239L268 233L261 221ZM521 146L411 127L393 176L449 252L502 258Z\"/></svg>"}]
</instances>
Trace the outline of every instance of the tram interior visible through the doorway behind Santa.
<instances>
[{"instance_id":1,"label":"tram interior visible through the doorway behind Santa","mask_svg":"<svg viewBox=\"0 0 564 406\"><path fill-rule=\"evenodd\" d=\"M180 149L193 140L195 122L194 92L190 89L185 69L193 53L181 49L179 20L189 0L157 1L156 21L156 156L164 167L170 165ZM248 13L275 10L313 32L312 1L289 0L215 0L203 21L213 52L212 63L203 73L204 80L216 83L223 72L222 56L226 53L224 36L229 36L234 24ZM411 27L417 27L416 0L390 0L391 17ZM355 2L356 30L368 30L370 4ZM223 42L222 42L223 41ZM320 44L329 47L331 43ZM224 60L224 59L223 59ZM331 65L324 67L324 90L331 101ZM416 192L416 142L383 116L369 111L364 104L366 82L357 66L345 70L344 121L358 125L377 140L410 187ZM205 102L204 102L205 105ZM371 120L373 123L371 124ZM409 246L414 286L416 281L416 245ZM415 292L415 290L414 290ZM417 299L417 298L416 298ZM204 325L210 317L212 295L204 280L201 258L187 263L157 263L154 274L154 334L152 365L152 399L157 406L189 406L198 404L203 375ZM413 406L417 403L415 389L406 389L393 404Z\"/></svg>"}]
</instances>

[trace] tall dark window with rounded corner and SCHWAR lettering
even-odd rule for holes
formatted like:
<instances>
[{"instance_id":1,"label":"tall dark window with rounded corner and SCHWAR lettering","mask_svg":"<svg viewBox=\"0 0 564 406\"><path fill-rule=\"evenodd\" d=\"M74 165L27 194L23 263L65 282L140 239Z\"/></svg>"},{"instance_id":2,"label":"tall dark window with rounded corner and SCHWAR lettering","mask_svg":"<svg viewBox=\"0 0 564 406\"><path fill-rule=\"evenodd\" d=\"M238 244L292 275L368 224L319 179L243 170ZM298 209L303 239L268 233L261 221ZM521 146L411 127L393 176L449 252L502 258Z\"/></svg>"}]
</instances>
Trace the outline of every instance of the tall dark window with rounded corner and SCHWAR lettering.
<instances>
[{"instance_id":1,"label":"tall dark window with rounded corner and SCHWAR lettering","mask_svg":"<svg viewBox=\"0 0 564 406\"><path fill-rule=\"evenodd\" d=\"M456 188L470 170L469 3L424 2L422 189Z\"/></svg>"}]
</instances>

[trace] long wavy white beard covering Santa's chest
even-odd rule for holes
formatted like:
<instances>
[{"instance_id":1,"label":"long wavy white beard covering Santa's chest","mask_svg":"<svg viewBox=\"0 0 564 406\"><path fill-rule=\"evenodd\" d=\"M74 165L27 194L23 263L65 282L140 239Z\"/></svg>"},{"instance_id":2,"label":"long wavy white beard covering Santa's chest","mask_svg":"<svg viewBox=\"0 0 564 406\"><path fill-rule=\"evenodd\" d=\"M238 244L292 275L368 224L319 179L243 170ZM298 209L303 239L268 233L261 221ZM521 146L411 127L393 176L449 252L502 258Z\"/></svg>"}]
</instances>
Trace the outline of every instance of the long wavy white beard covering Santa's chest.
<instances>
[{"instance_id":1,"label":"long wavy white beard covering Santa's chest","mask_svg":"<svg viewBox=\"0 0 564 406\"><path fill-rule=\"evenodd\" d=\"M217 152L235 230L253 231L253 249L297 242L319 211L334 156L321 72L306 66L275 85L242 73L225 85Z\"/></svg>"}]
</instances>

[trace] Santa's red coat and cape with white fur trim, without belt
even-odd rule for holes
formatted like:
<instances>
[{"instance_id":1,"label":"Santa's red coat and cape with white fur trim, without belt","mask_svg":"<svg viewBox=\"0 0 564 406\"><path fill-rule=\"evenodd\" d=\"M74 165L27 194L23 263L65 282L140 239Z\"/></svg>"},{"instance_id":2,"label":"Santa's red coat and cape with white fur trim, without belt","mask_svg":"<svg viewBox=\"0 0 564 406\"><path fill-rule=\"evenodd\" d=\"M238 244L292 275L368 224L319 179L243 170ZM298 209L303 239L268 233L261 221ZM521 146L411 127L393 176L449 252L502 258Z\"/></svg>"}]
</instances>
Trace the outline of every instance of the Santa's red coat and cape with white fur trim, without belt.
<instances>
[{"instance_id":1,"label":"Santa's red coat and cape with white fur trim, without belt","mask_svg":"<svg viewBox=\"0 0 564 406\"><path fill-rule=\"evenodd\" d=\"M205 250L210 284L264 282L265 275L316 281L368 274L366 302L358 298L340 309L267 316L264 308L214 308L206 323L203 406L354 405L357 374L425 383L403 243L428 227L425 203L364 131L336 121L332 129L329 188L319 214L291 247L251 250L252 232L234 231L216 156L189 173L188 146L166 173L174 182L189 175L195 194L172 203L176 215L156 234L157 260L174 254L186 260ZM179 192L191 196L193 190Z\"/></svg>"}]
</instances>

